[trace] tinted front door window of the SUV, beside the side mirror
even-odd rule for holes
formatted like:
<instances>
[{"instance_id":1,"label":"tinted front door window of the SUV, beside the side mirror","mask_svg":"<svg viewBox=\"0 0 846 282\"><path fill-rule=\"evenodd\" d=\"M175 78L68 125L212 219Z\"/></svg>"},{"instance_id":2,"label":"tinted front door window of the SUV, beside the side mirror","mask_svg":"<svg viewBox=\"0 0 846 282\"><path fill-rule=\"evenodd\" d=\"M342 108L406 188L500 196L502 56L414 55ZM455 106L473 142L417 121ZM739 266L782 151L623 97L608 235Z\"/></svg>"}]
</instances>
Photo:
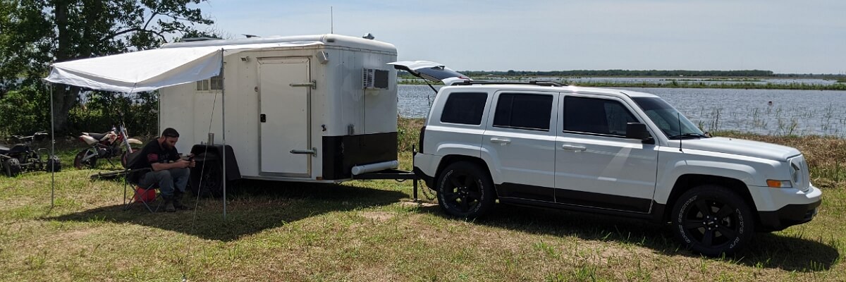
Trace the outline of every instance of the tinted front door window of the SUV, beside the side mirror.
<instances>
[{"instance_id":1,"label":"tinted front door window of the SUV, beside the side mirror","mask_svg":"<svg viewBox=\"0 0 846 282\"><path fill-rule=\"evenodd\" d=\"M564 131L626 135L626 124L639 122L623 103L600 98L565 97Z\"/></svg>"}]
</instances>

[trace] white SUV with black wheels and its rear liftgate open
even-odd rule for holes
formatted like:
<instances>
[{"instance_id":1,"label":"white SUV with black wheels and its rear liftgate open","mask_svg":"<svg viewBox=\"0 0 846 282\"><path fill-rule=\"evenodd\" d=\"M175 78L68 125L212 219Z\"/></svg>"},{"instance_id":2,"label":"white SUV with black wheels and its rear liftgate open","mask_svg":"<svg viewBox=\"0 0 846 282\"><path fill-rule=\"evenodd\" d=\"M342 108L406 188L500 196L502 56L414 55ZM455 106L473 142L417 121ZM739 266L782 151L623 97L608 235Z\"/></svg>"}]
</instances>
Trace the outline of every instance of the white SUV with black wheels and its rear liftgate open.
<instances>
[{"instance_id":1,"label":"white SUV with black wheels and its rear liftgate open","mask_svg":"<svg viewBox=\"0 0 846 282\"><path fill-rule=\"evenodd\" d=\"M718 256L753 231L810 221L821 203L798 150L710 137L655 95L454 79L427 63L394 64L453 76L420 131L415 173L454 216L479 217L498 200L649 218Z\"/></svg>"}]
</instances>

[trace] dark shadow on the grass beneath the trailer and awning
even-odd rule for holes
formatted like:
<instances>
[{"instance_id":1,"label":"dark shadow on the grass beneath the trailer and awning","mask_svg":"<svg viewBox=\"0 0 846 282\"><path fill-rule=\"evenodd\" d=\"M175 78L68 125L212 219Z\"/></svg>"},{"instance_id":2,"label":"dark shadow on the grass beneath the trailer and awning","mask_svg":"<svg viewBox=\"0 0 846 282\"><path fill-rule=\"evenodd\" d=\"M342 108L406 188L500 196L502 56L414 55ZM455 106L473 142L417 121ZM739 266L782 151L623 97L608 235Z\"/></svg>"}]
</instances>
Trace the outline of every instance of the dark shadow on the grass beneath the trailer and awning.
<instances>
[{"instance_id":1,"label":"dark shadow on the grass beneath the trailer and awning","mask_svg":"<svg viewBox=\"0 0 846 282\"><path fill-rule=\"evenodd\" d=\"M223 219L222 199L195 201L186 196L193 211L149 213L140 204L124 211L123 205L99 207L46 220L114 222L149 226L195 235L206 240L234 241L300 219L323 213L349 211L398 202L406 197L398 191L332 184L302 184L244 180L241 191L229 197L227 218ZM190 194L189 194L190 195ZM152 202L156 207L158 202Z\"/></svg>"}]
</instances>

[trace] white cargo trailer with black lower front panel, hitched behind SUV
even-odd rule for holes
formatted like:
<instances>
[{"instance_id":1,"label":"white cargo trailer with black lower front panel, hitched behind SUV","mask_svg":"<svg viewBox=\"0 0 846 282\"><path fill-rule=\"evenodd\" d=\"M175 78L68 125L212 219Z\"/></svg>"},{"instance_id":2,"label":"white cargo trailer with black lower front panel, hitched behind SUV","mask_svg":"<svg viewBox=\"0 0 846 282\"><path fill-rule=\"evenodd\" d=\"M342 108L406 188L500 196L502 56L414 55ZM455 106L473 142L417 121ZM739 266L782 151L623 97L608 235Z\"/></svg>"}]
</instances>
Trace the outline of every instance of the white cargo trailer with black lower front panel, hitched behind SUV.
<instances>
[{"instance_id":1,"label":"white cargo trailer with black lower front panel, hitched behind SUV","mask_svg":"<svg viewBox=\"0 0 846 282\"><path fill-rule=\"evenodd\" d=\"M397 51L392 44L317 35L162 48L277 42L292 44L228 54L222 58L222 75L159 90L160 130L180 132L179 152L217 161L225 120L228 180L340 182L351 180L356 166L396 168L397 79L388 63L396 61ZM210 132L217 136L216 146L206 147ZM219 171L208 167L210 176ZM207 182L204 186L212 190L219 185Z\"/></svg>"}]
</instances>

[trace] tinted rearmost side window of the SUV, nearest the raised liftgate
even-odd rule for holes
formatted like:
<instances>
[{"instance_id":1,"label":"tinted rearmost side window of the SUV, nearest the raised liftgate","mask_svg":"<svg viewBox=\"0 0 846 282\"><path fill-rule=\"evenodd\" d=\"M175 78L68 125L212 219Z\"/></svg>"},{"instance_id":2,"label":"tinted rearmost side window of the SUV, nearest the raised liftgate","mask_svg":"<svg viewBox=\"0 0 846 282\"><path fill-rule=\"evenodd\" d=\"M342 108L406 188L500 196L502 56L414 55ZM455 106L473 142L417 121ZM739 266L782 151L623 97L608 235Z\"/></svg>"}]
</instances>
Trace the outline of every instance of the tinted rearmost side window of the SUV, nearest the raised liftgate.
<instances>
[{"instance_id":1,"label":"tinted rearmost side window of the SUV, nearest the raised liftgate","mask_svg":"<svg viewBox=\"0 0 846 282\"><path fill-rule=\"evenodd\" d=\"M452 92L443 105L441 122L449 124L481 124L481 114L485 111L487 93Z\"/></svg>"}]
</instances>

